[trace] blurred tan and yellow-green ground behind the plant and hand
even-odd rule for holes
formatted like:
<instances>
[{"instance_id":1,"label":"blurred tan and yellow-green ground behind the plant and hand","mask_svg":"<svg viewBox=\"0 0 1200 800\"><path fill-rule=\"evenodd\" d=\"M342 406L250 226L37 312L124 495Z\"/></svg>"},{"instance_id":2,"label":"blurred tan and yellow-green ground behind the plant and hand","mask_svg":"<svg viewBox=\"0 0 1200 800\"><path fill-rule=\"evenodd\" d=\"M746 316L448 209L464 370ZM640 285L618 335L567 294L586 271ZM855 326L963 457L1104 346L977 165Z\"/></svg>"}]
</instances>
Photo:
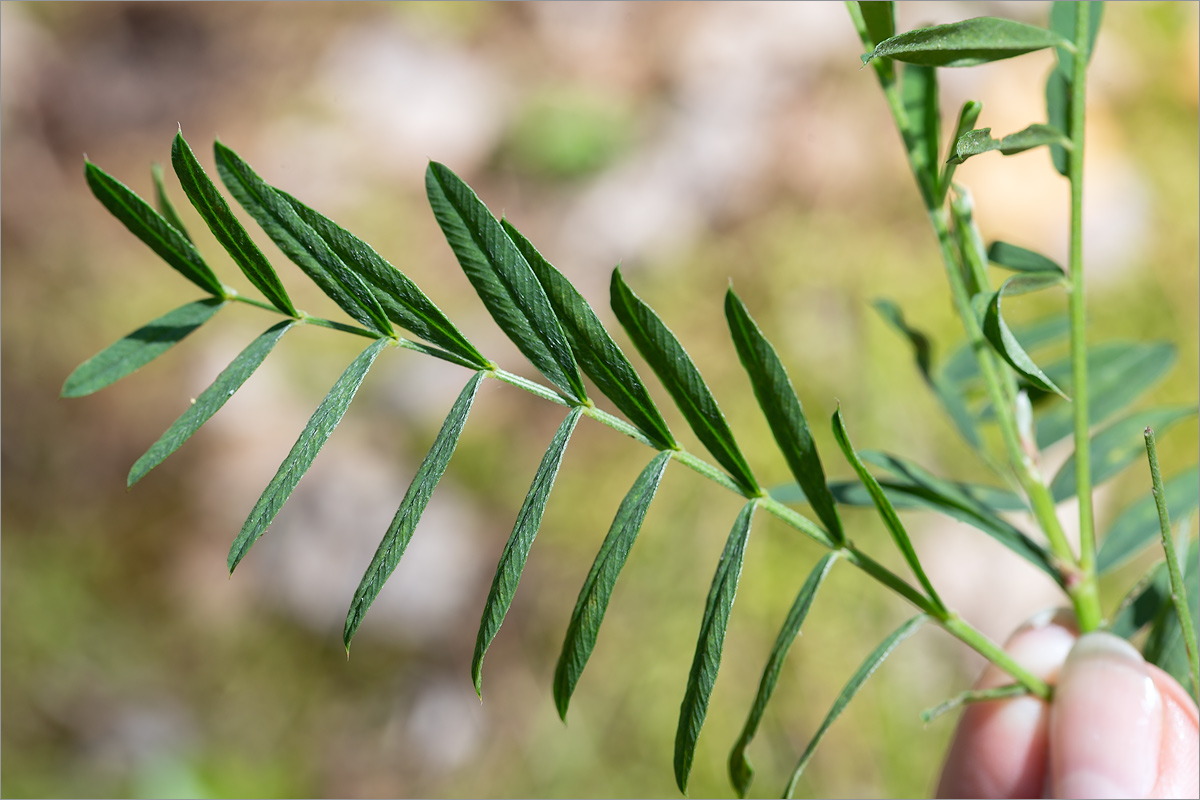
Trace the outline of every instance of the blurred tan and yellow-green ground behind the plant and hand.
<instances>
[{"instance_id":1,"label":"blurred tan and yellow-green ground behind the plant and hand","mask_svg":"<svg viewBox=\"0 0 1200 800\"><path fill-rule=\"evenodd\" d=\"M1196 397L1196 8L1110 4L1090 82L1090 335L1174 342L1178 366L1154 387L1158 403ZM1046 13L1044 2L912 2L899 25ZM787 480L786 467L725 332L730 281L779 347L833 476L850 470L828 456L821 421L840 401L859 447L986 479L869 307L892 297L940 353L956 342L932 236L841 4L5 2L0 23L5 796L676 796L678 703L738 507L668 470L564 727L550 693L562 634L649 457L581 425L480 704L469 680L479 609L562 416L490 383L347 660L354 587L467 373L403 351L380 359L229 579L229 541L361 342L290 335L126 493L132 462L272 320L224 311L120 384L59 399L74 366L196 295L90 196L85 152L149 193L150 163L169 161L176 126L210 170L220 137L374 245L491 357L530 374L428 212L426 161L445 162L606 321L622 263L694 355L764 483ZM942 71L943 116L976 98L997 133L1039 121L1051 66L1042 53ZM1063 258L1067 190L1044 151L980 157L956 179L989 239ZM245 287L169 187L200 251ZM300 307L337 314L258 239ZM1021 319L1051 306L1010 308ZM1195 421L1160 446L1166 474L1194 463ZM1099 492L1102 530L1146 485L1138 465ZM868 552L898 564L871 515L846 519ZM911 523L943 597L989 634L1060 602L973 529L928 515ZM728 747L818 555L760 515L692 795L731 795ZM1110 603L1145 565L1106 585ZM854 571L834 571L751 750L752 794L780 790L851 672L908 613ZM799 793L928 794L954 720L923 728L917 714L978 668L949 637L919 633L836 723Z\"/></svg>"}]
</instances>

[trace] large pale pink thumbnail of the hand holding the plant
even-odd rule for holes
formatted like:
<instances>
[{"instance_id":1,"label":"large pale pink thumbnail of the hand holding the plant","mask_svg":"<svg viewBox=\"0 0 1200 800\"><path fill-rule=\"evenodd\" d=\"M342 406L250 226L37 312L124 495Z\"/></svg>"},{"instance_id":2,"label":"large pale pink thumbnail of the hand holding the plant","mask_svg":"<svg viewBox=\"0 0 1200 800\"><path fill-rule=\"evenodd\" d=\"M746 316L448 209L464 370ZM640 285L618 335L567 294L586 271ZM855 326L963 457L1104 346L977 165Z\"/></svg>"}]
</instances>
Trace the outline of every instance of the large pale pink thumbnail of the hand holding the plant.
<instances>
[{"instance_id":1,"label":"large pale pink thumbnail of the hand holding the plant","mask_svg":"<svg viewBox=\"0 0 1200 800\"><path fill-rule=\"evenodd\" d=\"M1057 798L1145 798L1154 786L1163 698L1141 654L1111 633L1080 637L1050 709Z\"/></svg>"}]
</instances>

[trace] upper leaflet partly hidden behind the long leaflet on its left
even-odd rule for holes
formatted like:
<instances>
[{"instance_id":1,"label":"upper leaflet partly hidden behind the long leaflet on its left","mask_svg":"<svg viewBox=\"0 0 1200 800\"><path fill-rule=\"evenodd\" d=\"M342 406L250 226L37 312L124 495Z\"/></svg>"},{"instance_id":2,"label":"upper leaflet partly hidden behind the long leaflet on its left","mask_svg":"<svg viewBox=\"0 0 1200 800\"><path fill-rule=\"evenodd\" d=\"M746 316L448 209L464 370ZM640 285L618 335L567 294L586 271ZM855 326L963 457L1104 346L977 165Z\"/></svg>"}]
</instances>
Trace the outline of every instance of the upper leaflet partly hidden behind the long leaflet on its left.
<instances>
[{"instance_id":1,"label":"upper leaflet partly hidden behind the long leaflet on its left","mask_svg":"<svg viewBox=\"0 0 1200 800\"><path fill-rule=\"evenodd\" d=\"M317 231L337 258L366 282L388 319L457 355L463 366L475 369L491 369L494 366L407 275L389 264L371 245L287 192L278 188L275 191Z\"/></svg>"}]
</instances>

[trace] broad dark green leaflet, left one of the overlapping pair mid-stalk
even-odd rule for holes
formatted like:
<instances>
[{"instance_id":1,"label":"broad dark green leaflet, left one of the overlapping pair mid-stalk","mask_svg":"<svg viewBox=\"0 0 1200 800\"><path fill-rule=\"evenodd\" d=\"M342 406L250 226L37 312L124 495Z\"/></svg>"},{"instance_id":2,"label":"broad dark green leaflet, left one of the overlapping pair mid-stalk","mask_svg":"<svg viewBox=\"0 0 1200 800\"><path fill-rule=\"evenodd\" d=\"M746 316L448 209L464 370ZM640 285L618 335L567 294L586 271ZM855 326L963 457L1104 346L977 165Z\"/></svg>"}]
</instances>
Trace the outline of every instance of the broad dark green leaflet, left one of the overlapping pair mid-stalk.
<instances>
[{"instance_id":1,"label":"broad dark green leaflet, left one of the overlapping pair mid-stalk","mask_svg":"<svg viewBox=\"0 0 1200 800\"><path fill-rule=\"evenodd\" d=\"M570 399L586 402L563 327L500 223L462 179L436 161L425 172L425 192L450 249L496 324L552 384Z\"/></svg>"}]
</instances>

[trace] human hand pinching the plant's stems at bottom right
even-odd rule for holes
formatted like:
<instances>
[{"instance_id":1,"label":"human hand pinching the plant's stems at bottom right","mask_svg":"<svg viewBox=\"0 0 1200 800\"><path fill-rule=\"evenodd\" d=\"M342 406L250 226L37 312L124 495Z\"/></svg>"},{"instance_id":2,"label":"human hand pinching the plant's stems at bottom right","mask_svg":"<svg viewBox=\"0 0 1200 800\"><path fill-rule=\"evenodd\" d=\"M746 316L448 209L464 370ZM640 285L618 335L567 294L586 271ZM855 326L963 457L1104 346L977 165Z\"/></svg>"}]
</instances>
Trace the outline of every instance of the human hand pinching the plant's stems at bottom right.
<instances>
[{"instance_id":1,"label":"human hand pinching the plant's stems at bottom right","mask_svg":"<svg viewBox=\"0 0 1200 800\"><path fill-rule=\"evenodd\" d=\"M1043 614L1004 649L1051 685L974 703L959 720L938 798L1195 798L1200 716L1165 672L1124 639L1079 636L1069 614ZM1013 682L994 664L976 688Z\"/></svg>"}]
</instances>

